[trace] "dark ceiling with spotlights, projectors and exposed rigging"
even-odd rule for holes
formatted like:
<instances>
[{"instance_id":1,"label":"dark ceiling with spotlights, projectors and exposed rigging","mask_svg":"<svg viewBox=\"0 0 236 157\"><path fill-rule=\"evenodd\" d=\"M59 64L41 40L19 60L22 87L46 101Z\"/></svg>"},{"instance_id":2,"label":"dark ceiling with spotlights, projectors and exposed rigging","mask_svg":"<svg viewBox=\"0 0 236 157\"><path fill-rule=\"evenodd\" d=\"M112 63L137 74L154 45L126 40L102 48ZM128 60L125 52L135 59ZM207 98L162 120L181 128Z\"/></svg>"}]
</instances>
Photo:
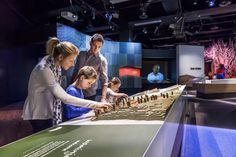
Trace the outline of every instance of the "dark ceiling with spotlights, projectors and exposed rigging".
<instances>
[{"instance_id":1,"label":"dark ceiling with spotlights, projectors and exposed rigging","mask_svg":"<svg viewBox=\"0 0 236 157\"><path fill-rule=\"evenodd\" d=\"M71 12L78 20L61 16ZM236 34L235 0L3 0L2 37L64 23L106 39L141 42L144 48L208 45ZM8 31L6 31L8 30ZM9 38L9 37L8 37Z\"/></svg>"}]
</instances>

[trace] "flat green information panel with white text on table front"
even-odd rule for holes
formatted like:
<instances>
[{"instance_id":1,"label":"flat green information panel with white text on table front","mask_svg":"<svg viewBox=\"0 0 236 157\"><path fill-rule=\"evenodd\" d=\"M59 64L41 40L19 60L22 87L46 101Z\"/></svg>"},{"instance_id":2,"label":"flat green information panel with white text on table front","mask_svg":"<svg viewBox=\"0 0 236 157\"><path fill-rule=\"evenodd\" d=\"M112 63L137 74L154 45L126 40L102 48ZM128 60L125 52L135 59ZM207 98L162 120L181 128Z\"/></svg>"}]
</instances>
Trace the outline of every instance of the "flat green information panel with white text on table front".
<instances>
[{"instance_id":1,"label":"flat green information panel with white text on table front","mask_svg":"<svg viewBox=\"0 0 236 157\"><path fill-rule=\"evenodd\" d=\"M161 125L65 125L0 147L1 157L142 157Z\"/></svg>"}]
</instances>

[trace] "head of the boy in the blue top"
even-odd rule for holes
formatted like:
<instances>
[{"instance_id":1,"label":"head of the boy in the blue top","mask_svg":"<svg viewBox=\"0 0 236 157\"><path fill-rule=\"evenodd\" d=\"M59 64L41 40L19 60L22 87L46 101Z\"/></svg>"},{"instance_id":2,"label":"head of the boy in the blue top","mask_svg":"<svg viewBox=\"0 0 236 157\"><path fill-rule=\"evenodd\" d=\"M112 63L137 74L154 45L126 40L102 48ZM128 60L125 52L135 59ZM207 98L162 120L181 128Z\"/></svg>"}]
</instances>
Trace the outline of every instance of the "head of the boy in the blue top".
<instances>
[{"instance_id":1,"label":"head of the boy in the blue top","mask_svg":"<svg viewBox=\"0 0 236 157\"><path fill-rule=\"evenodd\" d=\"M82 89L88 89L93 83L96 82L97 72L91 66L84 66L80 69L78 73L78 78L76 80L76 86Z\"/></svg>"}]
</instances>

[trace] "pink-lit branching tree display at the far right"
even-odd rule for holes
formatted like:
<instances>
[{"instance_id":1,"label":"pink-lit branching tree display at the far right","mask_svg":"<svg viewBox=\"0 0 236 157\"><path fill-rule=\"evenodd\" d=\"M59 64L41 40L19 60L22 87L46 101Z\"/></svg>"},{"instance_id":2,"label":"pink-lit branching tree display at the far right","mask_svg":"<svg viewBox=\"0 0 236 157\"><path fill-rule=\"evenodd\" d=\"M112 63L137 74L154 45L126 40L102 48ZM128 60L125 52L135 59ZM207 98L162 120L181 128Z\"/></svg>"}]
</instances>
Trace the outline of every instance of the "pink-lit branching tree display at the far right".
<instances>
[{"instance_id":1,"label":"pink-lit branching tree display at the far right","mask_svg":"<svg viewBox=\"0 0 236 157\"><path fill-rule=\"evenodd\" d=\"M224 64L227 69L226 78L236 77L236 41L225 43L222 40L214 42L205 49L205 60L212 60L213 71L216 72L219 64Z\"/></svg>"}]
</instances>

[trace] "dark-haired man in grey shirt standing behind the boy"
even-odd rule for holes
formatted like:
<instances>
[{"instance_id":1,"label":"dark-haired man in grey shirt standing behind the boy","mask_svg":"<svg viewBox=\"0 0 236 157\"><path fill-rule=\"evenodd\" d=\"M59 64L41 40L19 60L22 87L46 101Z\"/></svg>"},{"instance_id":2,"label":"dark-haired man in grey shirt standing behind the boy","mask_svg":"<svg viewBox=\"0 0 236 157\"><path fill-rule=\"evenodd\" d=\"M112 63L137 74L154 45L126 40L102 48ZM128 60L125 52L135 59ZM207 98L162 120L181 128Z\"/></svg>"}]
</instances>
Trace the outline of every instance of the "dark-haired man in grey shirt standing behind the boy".
<instances>
[{"instance_id":1,"label":"dark-haired man in grey shirt standing behind the boy","mask_svg":"<svg viewBox=\"0 0 236 157\"><path fill-rule=\"evenodd\" d=\"M101 34L95 33L90 40L90 49L87 51L81 51L77 57L71 83L76 81L79 70L84 66L92 66L97 74L97 81L88 89L83 90L85 99L96 100L98 82L101 82L102 97L101 102L106 102L106 93L108 85L107 75L107 59L100 53L100 50L104 44L104 38Z\"/></svg>"}]
</instances>

